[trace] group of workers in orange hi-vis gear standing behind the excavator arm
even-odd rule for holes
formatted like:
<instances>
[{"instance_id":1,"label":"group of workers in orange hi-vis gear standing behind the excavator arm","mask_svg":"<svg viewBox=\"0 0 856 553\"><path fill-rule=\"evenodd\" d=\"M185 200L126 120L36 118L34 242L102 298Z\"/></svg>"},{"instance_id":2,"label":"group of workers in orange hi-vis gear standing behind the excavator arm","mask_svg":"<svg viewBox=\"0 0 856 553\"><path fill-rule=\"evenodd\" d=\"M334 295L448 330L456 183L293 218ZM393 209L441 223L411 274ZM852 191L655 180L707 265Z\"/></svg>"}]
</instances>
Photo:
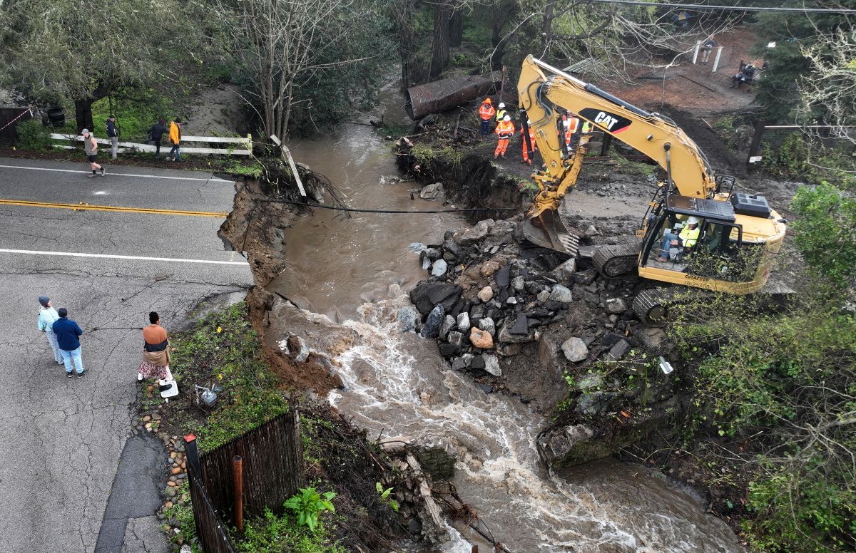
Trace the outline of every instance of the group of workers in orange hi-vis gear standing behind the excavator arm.
<instances>
[{"instance_id":1,"label":"group of workers in orange hi-vis gear standing behind the excavator arm","mask_svg":"<svg viewBox=\"0 0 856 553\"><path fill-rule=\"evenodd\" d=\"M508 150L508 142L511 140L511 137L514 136L515 128L514 122L511 121L511 115L508 114L508 110L505 109L505 103L500 102L496 109L493 107L493 103L490 100L490 97L484 98L484 102L479 106L479 119L481 120L481 127L479 130L479 134L481 136L487 136L490 134L490 125L493 121L496 121L496 127L493 132L496 133L497 141L496 141L496 150L493 152L494 159L502 157L505 159L505 152ZM526 131L528 130L529 140L528 144L526 141ZM573 156L575 153L575 144L579 142L580 133L588 133L591 132L591 123L588 121L580 121L580 118L572 113L564 113L562 114L562 130L558 131L560 134L564 133L565 146L568 148L568 155ZM535 144L535 130L532 128L532 121L526 120L526 125L520 125L520 142L522 145L522 155L523 159L521 163L527 163L532 165L532 154L535 150L538 149L537 144Z\"/></svg>"}]
</instances>

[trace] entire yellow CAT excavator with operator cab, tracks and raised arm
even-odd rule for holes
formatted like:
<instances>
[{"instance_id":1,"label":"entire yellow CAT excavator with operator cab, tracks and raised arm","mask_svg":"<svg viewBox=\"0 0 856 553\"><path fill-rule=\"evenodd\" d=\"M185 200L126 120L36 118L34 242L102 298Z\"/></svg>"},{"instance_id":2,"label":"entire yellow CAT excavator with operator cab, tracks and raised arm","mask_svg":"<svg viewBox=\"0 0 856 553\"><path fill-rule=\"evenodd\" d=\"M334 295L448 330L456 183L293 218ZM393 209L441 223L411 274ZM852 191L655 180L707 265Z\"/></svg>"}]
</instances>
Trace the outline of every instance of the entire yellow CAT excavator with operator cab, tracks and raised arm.
<instances>
[{"instance_id":1,"label":"entire yellow CAT excavator with operator cab, tracks and raised arm","mask_svg":"<svg viewBox=\"0 0 856 553\"><path fill-rule=\"evenodd\" d=\"M530 242L570 256L578 253L580 236L568 230L559 209L577 182L589 140L584 134L568 148L562 119L575 116L650 157L666 175L636 232L641 241L596 250L593 262L600 273L612 277L636 267L645 279L712 291L747 294L764 288L787 221L763 196L735 191L733 176L715 176L704 153L675 121L532 56L523 62L517 88L521 114L526 111L521 116L526 147L532 150L531 127L545 163L543 171L532 175L538 194L523 226ZM696 221L694 244L663 250L666 232L677 234ZM642 321L661 321L667 310L664 297L668 294L645 291L633 309Z\"/></svg>"}]
</instances>

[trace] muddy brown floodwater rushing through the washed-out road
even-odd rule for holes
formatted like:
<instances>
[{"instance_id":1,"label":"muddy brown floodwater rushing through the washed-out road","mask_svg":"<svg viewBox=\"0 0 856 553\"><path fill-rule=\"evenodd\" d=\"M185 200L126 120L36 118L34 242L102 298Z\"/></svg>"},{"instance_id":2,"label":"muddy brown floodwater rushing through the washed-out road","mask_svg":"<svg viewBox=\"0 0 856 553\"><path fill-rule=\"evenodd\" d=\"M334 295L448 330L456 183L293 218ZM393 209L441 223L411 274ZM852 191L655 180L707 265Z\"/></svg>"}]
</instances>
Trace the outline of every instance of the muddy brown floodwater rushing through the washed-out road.
<instances>
[{"instance_id":1,"label":"muddy brown floodwater rushing through the washed-out road","mask_svg":"<svg viewBox=\"0 0 856 553\"><path fill-rule=\"evenodd\" d=\"M384 97L389 121L401 100L391 90ZM292 151L326 174L349 205L437 209L410 199L413 183L378 184L395 175L389 144L370 127L348 124ZM514 397L485 394L443 362L434 340L397 330L395 313L409 305L404 291L425 277L407 244L435 243L462 225L451 215L346 219L326 210L294 221L289 267L268 288L306 309L300 316L319 336L348 335L347 346L332 352L347 388L332 392L330 403L372 436L401 436L453 454L460 496L478 512L480 527L514 553L740 551L728 527L704 514L699 498L645 468L607 460L547 474L535 449L548 422L542 415ZM275 322L275 328L292 322ZM485 545L462 525L450 534L443 551L469 553L470 544Z\"/></svg>"}]
</instances>

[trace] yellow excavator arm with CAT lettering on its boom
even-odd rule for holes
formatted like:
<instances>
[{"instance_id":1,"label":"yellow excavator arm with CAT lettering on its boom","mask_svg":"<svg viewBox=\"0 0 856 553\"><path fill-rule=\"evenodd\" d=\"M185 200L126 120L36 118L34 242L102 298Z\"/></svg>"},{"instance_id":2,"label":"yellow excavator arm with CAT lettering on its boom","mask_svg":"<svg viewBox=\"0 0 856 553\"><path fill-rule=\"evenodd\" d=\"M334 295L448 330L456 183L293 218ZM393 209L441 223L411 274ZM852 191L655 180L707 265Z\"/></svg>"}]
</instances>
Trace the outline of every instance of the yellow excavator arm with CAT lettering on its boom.
<instances>
[{"instance_id":1,"label":"yellow excavator arm with CAT lettering on its boom","mask_svg":"<svg viewBox=\"0 0 856 553\"><path fill-rule=\"evenodd\" d=\"M711 197L716 190L704 154L668 117L639 109L532 56L523 62L517 88L520 108L532 121L535 142L546 164L544 171L532 175L538 194L527 216L542 227L549 243L536 243L568 253L575 250L557 210L562 197L576 184L588 138L583 136L576 151L565 155L557 126L563 111L591 122L657 162L668 175L669 188L681 196Z\"/></svg>"}]
</instances>

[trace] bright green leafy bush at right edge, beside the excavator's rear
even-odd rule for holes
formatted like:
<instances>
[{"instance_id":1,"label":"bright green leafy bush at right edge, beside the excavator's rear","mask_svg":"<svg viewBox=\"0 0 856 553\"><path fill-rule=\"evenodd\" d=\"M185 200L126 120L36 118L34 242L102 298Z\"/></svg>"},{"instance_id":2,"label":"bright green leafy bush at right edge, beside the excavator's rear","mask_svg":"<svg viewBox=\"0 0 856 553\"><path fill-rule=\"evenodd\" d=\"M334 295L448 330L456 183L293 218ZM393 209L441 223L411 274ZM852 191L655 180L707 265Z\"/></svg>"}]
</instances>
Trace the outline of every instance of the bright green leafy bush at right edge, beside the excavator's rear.
<instances>
[{"instance_id":1,"label":"bright green leafy bush at right edge, beside the excavator's rear","mask_svg":"<svg viewBox=\"0 0 856 553\"><path fill-rule=\"evenodd\" d=\"M827 182L800 187L791 203L800 215L791 229L809 266L836 286L856 278L856 199Z\"/></svg>"}]
</instances>

